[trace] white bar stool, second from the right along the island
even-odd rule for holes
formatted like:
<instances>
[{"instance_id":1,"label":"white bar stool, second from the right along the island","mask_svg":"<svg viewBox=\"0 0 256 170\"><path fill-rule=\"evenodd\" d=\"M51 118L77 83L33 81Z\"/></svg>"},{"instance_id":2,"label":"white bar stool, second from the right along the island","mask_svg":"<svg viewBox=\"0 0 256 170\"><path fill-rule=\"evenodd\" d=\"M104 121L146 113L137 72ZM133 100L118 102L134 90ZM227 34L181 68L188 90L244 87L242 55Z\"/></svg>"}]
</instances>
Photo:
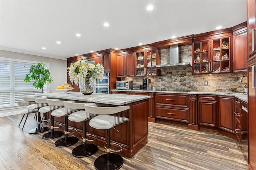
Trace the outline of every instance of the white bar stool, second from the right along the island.
<instances>
[{"instance_id":1,"label":"white bar stool, second from the right along the island","mask_svg":"<svg viewBox=\"0 0 256 170\"><path fill-rule=\"evenodd\" d=\"M98 147L95 144L91 144L91 143L88 144L88 143L86 143L86 141L95 141L97 139L97 137L94 135L91 135L91 134L86 134L86 132L87 132L86 121L90 121L90 119L92 119L96 115L87 113L84 110L84 103L76 104L76 109L79 109L79 111L76 111L76 112L72 113L71 115L69 115L68 119L70 121L74 121L74 122L81 122L81 121L83 122L83 136L82 136L83 144L79 145L78 147L75 147L72 150L72 155L76 156L76 157L90 156L98 150ZM87 135L92 136L95 139L89 140L86 137Z\"/></svg>"}]
</instances>

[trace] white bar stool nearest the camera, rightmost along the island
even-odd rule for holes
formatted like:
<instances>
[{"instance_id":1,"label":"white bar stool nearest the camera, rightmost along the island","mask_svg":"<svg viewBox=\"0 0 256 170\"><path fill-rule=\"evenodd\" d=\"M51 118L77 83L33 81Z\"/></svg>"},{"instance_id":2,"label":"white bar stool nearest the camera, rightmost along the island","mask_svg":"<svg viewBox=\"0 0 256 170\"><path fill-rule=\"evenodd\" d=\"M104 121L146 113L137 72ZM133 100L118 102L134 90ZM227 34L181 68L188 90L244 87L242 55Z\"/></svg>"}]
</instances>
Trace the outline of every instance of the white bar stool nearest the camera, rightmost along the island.
<instances>
[{"instance_id":1,"label":"white bar stool nearest the camera, rightmost along the island","mask_svg":"<svg viewBox=\"0 0 256 170\"><path fill-rule=\"evenodd\" d=\"M106 133L106 148L107 153L99 156L94 161L94 167L97 170L118 170L123 165L123 158L119 154L110 153L122 151L122 146L116 143L110 143L110 128L121 125L129 121L129 112L126 111L130 106L116 106L108 107L103 104L85 104L84 105L86 112L97 114L96 117L90 120L89 125L95 129L105 129ZM121 147L120 150L110 149L110 144L117 145Z\"/></svg>"}]
</instances>

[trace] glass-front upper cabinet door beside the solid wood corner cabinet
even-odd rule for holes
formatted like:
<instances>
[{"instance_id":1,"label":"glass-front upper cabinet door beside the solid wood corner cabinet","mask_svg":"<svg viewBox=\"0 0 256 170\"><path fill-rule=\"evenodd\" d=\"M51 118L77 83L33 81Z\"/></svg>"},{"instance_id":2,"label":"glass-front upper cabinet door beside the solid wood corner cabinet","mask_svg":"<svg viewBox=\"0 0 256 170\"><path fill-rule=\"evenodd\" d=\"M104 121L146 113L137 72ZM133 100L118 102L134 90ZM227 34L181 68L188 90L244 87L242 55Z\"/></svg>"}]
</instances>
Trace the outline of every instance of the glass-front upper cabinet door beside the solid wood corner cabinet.
<instances>
[{"instance_id":1,"label":"glass-front upper cabinet door beside the solid wood corner cabinet","mask_svg":"<svg viewBox=\"0 0 256 170\"><path fill-rule=\"evenodd\" d=\"M212 39L212 73L231 72L231 36Z\"/></svg>"}]
</instances>

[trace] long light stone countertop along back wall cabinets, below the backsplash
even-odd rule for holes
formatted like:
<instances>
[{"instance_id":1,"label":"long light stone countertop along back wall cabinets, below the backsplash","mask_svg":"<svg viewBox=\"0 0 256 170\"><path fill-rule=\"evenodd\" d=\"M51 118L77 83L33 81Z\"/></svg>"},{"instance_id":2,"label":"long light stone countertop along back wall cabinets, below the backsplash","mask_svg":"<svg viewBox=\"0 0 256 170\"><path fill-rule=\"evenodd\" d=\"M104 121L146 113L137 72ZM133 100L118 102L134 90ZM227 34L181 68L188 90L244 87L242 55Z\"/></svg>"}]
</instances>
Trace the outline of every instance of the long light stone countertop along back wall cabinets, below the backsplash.
<instances>
[{"instance_id":1,"label":"long light stone countertop along back wall cabinets, below the backsplash","mask_svg":"<svg viewBox=\"0 0 256 170\"><path fill-rule=\"evenodd\" d=\"M147 93L180 93L180 94L212 94L223 96L234 96L243 102L248 103L247 93L232 93L232 92L173 92L173 91L158 91L158 90L111 90L111 91L127 91L127 92L147 92Z\"/></svg>"}]
</instances>

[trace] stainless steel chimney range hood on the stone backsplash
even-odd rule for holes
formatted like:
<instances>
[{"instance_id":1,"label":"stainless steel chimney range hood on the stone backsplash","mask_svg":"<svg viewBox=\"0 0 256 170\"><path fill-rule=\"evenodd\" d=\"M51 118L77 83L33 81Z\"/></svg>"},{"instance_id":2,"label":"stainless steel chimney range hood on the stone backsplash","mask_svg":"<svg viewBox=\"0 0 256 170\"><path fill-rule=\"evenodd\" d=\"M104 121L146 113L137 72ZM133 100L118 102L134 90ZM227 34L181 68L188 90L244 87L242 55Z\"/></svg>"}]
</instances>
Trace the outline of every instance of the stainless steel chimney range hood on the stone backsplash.
<instances>
[{"instance_id":1,"label":"stainless steel chimney range hood on the stone backsplash","mask_svg":"<svg viewBox=\"0 0 256 170\"><path fill-rule=\"evenodd\" d=\"M170 63L164 65L156 65L158 68L175 68L192 66L191 63L180 63L179 45L170 45Z\"/></svg>"}]
</instances>

